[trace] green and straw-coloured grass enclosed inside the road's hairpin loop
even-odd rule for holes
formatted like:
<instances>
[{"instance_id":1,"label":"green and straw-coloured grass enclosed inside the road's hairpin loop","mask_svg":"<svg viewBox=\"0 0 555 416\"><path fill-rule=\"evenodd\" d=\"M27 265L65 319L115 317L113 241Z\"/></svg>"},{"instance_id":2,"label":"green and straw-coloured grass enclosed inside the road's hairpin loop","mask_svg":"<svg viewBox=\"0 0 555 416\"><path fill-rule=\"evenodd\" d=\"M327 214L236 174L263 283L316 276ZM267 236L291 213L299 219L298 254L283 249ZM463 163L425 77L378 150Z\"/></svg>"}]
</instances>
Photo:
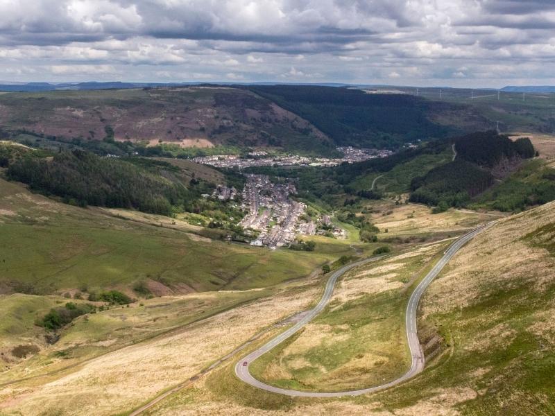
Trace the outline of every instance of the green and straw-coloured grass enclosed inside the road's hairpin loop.
<instances>
[{"instance_id":1,"label":"green and straw-coloured grass enclosed inside the road's hairpin loop","mask_svg":"<svg viewBox=\"0 0 555 416\"><path fill-rule=\"evenodd\" d=\"M364 388L406 372L407 299L445 244L349 272L325 311L253 363L253 374L280 387L333 391Z\"/></svg>"}]
</instances>

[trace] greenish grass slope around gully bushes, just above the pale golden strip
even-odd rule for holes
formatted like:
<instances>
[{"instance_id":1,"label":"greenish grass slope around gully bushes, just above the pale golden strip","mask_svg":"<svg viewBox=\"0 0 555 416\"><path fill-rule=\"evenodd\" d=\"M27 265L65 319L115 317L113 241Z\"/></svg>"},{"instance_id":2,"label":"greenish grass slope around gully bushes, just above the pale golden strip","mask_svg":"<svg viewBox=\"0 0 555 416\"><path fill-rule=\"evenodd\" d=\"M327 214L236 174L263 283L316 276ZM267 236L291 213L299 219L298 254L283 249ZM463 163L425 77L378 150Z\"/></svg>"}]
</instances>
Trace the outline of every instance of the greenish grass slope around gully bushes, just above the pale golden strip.
<instances>
[{"instance_id":1,"label":"greenish grass slope around gully bushes, just above the pale golden strip","mask_svg":"<svg viewBox=\"0 0 555 416\"><path fill-rule=\"evenodd\" d=\"M0 312L4 317L0 327L0 349L4 359L0 364L9 371L0 374L0 383L59 371L126 345L175 331L269 293L268 290L193 293L158 297L130 307L115 307L74 320L60 331L60 340L55 345L45 343L44 330L36 327L34 321L67 299L19 293L3 296L0 302ZM22 360L10 355L11 348L16 345L36 345L41 352L31 354L18 365Z\"/></svg>"}]
</instances>

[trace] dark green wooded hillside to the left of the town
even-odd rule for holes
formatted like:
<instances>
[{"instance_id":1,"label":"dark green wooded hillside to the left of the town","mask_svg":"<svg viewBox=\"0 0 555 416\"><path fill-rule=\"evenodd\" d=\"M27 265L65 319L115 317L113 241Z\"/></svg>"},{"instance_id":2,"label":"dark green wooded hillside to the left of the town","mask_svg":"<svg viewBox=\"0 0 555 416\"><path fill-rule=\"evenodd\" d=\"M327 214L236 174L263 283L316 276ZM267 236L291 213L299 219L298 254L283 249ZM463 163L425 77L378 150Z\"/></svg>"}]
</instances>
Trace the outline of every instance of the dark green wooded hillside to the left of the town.
<instances>
[{"instance_id":1,"label":"dark green wooded hillside to the left of the town","mask_svg":"<svg viewBox=\"0 0 555 416\"><path fill-rule=\"evenodd\" d=\"M173 207L189 211L209 185L180 182L176 168L145 159L99 157L83 150L62 151L51 158L27 155L8 166L12 180L33 191L58 196L65 202L101 207L138 209L171 215ZM173 175L171 174L173 171Z\"/></svg>"}]
</instances>

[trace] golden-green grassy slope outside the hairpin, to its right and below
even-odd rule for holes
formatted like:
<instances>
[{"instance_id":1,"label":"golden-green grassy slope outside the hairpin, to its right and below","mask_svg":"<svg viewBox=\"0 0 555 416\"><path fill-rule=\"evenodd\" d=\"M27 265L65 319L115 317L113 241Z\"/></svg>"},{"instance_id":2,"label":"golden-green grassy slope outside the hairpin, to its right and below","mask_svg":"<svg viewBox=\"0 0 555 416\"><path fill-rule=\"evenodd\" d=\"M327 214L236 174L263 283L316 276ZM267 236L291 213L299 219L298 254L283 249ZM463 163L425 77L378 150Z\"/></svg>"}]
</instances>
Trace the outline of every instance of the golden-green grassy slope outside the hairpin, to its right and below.
<instances>
[{"instance_id":1,"label":"golden-green grassy slope outside the hairpin, to its right and below","mask_svg":"<svg viewBox=\"0 0 555 416\"><path fill-rule=\"evenodd\" d=\"M369 397L291 399L245 386L229 366L150 414L555 413L554 208L551 202L501 220L434 281L419 327L425 342L439 340L440 354L429 356L426 370L409 383Z\"/></svg>"}]
</instances>

